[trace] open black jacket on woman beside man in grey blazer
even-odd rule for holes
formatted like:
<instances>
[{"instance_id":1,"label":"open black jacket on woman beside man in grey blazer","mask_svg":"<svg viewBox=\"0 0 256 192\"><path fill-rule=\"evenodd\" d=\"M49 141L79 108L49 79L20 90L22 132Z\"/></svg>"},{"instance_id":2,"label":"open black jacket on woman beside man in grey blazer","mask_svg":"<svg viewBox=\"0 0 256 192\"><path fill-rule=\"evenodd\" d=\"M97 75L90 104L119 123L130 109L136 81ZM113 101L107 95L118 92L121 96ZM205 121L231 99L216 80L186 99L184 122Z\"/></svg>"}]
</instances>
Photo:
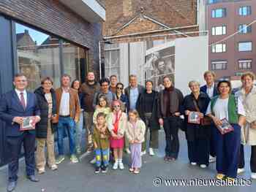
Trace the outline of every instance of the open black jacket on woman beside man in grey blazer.
<instances>
[{"instance_id":1,"label":"open black jacket on woman beside man in grey blazer","mask_svg":"<svg viewBox=\"0 0 256 192\"><path fill-rule=\"evenodd\" d=\"M153 101L153 109L152 109L152 116L151 120L149 122L149 127L152 129L159 129L159 102L158 102L158 92L157 91L152 91L153 96L154 96L154 101ZM145 118L145 112L144 112L144 104L145 104L145 95L146 91L143 91L143 93L140 93L138 101L136 103L136 110L138 111L140 118L146 123L146 118Z\"/></svg>"}]
</instances>

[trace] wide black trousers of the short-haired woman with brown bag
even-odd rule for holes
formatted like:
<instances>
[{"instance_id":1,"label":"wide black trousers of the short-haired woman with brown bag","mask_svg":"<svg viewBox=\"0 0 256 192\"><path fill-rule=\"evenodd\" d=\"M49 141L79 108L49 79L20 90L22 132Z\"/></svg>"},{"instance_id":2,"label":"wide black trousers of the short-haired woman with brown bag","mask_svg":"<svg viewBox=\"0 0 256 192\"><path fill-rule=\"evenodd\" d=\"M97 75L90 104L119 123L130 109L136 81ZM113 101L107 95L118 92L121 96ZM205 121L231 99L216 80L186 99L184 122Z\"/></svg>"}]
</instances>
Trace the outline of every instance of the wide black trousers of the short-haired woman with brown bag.
<instances>
[{"instance_id":1,"label":"wide black trousers of the short-haired woman with brown bag","mask_svg":"<svg viewBox=\"0 0 256 192\"><path fill-rule=\"evenodd\" d=\"M189 161L197 164L209 164L209 151L210 140L209 139L195 139L195 141L187 141L187 151L189 155Z\"/></svg>"}]
</instances>

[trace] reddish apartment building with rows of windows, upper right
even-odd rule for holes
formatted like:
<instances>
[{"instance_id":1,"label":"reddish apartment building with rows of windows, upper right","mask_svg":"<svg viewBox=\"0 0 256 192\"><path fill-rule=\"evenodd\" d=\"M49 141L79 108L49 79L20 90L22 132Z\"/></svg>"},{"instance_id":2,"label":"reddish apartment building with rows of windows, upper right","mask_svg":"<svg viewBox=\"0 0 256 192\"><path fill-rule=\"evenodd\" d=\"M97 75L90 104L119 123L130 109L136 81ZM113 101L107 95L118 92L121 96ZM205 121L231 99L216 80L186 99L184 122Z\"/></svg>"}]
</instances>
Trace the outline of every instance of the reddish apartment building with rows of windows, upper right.
<instances>
[{"instance_id":1,"label":"reddish apartment building with rows of windows, upper right","mask_svg":"<svg viewBox=\"0 0 256 192\"><path fill-rule=\"evenodd\" d=\"M229 80L256 72L256 1L208 0L206 9L209 69Z\"/></svg>"}]
</instances>

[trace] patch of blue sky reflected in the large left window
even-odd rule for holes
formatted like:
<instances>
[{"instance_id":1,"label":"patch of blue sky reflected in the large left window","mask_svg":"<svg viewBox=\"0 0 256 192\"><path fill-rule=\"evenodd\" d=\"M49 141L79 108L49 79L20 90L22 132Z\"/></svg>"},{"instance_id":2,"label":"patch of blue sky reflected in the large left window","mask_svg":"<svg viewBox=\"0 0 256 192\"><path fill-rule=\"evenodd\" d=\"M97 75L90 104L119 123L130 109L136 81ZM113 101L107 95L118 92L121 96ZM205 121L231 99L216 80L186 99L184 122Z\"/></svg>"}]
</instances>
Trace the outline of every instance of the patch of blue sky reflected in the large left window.
<instances>
[{"instance_id":1,"label":"patch of blue sky reflected in the large left window","mask_svg":"<svg viewBox=\"0 0 256 192\"><path fill-rule=\"evenodd\" d=\"M24 33L25 29L29 30L29 35L32 37L34 41L37 41L37 45L41 45L42 42L44 42L45 39L49 37L47 34L43 34L39 31L20 25L18 23L15 23L15 27L16 27L16 34Z\"/></svg>"}]
</instances>

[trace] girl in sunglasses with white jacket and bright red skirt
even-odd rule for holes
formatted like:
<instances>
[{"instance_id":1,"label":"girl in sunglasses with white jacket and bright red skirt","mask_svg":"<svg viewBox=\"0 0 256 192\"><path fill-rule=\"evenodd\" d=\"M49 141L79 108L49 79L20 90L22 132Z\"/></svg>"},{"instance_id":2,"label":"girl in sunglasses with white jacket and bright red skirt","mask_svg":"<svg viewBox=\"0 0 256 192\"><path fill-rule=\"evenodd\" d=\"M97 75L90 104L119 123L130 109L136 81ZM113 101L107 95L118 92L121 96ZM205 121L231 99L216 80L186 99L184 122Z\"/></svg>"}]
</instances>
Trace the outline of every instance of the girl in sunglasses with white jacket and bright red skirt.
<instances>
[{"instance_id":1,"label":"girl in sunglasses with white jacket and bright red skirt","mask_svg":"<svg viewBox=\"0 0 256 192\"><path fill-rule=\"evenodd\" d=\"M124 132L127 130L127 115L121 111L121 101L112 102L112 112L107 118L108 129L110 131L110 147L113 148L115 163L113 169L124 169L123 148L124 148Z\"/></svg>"}]
</instances>

